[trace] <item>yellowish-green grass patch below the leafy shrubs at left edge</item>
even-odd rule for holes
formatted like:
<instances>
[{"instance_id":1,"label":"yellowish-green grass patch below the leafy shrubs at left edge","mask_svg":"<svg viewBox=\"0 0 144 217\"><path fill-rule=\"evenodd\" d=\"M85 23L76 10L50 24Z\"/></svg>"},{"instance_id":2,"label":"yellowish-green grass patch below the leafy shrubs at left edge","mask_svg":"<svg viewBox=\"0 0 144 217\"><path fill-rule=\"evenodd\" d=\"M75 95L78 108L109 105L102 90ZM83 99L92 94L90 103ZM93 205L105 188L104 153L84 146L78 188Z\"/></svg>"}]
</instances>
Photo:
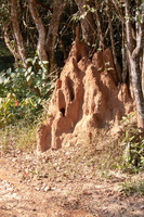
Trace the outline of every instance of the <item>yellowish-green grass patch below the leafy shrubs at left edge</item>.
<instances>
[{"instance_id":1,"label":"yellowish-green grass patch below the leafy shrubs at left edge","mask_svg":"<svg viewBox=\"0 0 144 217\"><path fill-rule=\"evenodd\" d=\"M4 152L36 149L36 123L19 120L0 129L0 149Z\"/></svg>"}]
</instances>

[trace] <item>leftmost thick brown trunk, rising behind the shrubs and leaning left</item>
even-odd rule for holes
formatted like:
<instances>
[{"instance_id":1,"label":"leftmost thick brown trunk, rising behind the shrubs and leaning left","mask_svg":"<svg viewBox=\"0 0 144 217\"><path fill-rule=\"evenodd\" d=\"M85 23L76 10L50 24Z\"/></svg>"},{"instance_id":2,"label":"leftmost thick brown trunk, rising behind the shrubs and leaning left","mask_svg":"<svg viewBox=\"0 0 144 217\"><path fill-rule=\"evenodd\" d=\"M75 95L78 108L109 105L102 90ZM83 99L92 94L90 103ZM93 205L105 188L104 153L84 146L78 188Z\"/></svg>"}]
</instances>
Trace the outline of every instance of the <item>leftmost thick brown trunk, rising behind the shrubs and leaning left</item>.
<instances>
[{"instance_id":1,"label":"leftmost thick brown trunk, rising behind the shrubs and leaning left","mask_svg":"<svg viewBox=\"0 0 144 217\"><path fill-rule=\"evenodd\" d=\"M19 24L18 24L16 0L10 0L10 2L11 2L11 22L12 22L12 26L13 26L13 33L14 33L14 37L15 37L15 41L16 41L16 47L17 47L18 54L23 61L23 64L26 67L27 66L26 52L25 52L23 37L22 37L21 29L19 29Z\"/></svg>"}]
</instances>

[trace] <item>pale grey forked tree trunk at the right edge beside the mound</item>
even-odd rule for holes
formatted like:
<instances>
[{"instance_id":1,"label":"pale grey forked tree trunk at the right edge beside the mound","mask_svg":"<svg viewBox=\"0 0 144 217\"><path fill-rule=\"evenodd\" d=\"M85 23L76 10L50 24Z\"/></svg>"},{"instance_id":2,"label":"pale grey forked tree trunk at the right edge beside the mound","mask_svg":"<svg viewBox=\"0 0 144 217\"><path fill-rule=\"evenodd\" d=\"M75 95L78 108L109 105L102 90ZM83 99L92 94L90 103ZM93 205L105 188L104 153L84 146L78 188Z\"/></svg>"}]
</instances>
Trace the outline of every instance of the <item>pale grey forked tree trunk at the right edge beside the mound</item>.
<instances>
[{"instance_id":1,"label":"pale grey forked tree trunk at the right edge beside the mound","mask_svg":"<svg viewBox=\"0 0 144 217\"><path fill-rule=\"evenodd\" d=\"M130 1L125 0L126 3L126 34L127 34L127 46L129 52L129 62L130 62L130 72L131 72L131 79L132 79L132 87L134 92L134 98L136 102L136 110L138 110L138 127L144 129L144 97L142 91L142 74L140 68L140 56L141 51L143 48L144 41L144 22L139 22L138 14L141 7L141 1L138 3L138 9L135 12L135 42L134 46L132 39L132 25L131 25L131 12L130 12Z\"/></svg>"}]
</instances>

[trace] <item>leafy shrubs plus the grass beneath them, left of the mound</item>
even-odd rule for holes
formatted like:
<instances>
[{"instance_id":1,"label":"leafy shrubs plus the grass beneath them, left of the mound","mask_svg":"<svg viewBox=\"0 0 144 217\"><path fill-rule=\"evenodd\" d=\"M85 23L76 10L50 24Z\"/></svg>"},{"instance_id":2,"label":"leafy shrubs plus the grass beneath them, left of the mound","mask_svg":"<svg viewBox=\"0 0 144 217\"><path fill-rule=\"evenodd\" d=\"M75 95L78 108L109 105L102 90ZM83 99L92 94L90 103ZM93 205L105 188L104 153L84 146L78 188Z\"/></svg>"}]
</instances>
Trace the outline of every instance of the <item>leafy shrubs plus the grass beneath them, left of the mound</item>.
<instances>
[{"instance_id":1,"label":"leafy shrubs plus the grass beneath them, left of the mound","mask_svg":"<svg viewBox=\"0 0 144 217\"><path fill-rule=\"evenodd\" d=\"M27 63L28 68L0 72L0 148L5 152L36 148L39 114L56 79L56 71L48 75L48 62L39 61L37 55Z\"/></svg>"}]
</instances>

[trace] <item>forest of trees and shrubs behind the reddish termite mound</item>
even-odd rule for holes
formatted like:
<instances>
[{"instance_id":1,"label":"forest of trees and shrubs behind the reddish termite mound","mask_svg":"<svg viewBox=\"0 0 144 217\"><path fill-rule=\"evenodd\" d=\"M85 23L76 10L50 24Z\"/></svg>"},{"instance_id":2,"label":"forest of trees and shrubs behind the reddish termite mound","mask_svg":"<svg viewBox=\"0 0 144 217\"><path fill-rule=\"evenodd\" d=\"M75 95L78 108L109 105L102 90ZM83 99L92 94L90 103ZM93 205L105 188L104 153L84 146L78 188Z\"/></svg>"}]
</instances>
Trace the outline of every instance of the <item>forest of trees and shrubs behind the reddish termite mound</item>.
<instances>
[{"instance_id":1,"label":"forest of trees and shrubs behind the reddish termite mound","mask_svg":"<svg viewBox=\"0 0 144 217\"><path fill-rule=\"evenodd\" d=\"M0 16L1 126L34 118L49 99L79 25L89 58L112 48L118 82L128 85L144 128L143 0L1 0Z\"/></svg>"}]
</instances>

